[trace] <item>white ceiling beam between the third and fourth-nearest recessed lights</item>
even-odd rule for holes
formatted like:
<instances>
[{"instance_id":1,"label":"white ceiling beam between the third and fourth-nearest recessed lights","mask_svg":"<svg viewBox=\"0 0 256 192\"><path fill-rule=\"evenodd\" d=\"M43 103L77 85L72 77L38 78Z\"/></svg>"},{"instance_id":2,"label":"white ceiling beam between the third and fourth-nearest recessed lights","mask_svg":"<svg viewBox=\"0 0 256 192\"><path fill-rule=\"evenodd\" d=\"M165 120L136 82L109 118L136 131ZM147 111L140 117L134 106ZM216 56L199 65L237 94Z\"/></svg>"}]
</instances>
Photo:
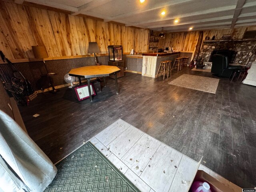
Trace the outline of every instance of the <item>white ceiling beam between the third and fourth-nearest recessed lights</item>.
<instances>
[{"instance_id":1,"label":"white ceiling beam between the third and fourth-nearest recessed lights","mask_svg":"<svg viewBox=\"0 0 256 192\"><path fill-rule=\"evenodd\" d=\"M189 22L181 22L178 24L174 24L173 22L170 22L170 24L164 24L164 25L154 25L154 26L147 26L148 28L160 28L160 27L171 27L171 26L182 26L182 25L188 25L188 24L196 24L196 23L203 23L203 22L210 22L210 21L221 21L221 20L227 20L232 19L233 16L223 16L223 17L214 17L214 18L208 18L208 19L201 19L201 20L193 20Z\"/></svg>"}]
</instances>

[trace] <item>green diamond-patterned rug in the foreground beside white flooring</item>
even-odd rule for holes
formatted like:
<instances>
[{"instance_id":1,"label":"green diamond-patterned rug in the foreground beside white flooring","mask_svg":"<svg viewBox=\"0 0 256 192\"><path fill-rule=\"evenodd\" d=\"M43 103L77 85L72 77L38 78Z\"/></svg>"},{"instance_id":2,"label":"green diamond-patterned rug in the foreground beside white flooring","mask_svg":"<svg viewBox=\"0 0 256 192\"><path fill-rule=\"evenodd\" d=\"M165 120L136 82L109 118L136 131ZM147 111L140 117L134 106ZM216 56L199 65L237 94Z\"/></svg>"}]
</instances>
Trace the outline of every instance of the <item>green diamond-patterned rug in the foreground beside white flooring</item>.
<instances>
[{"instance_id":1,"label":"green diamond-patterned rug in the foreground beside white flooring","mask_svg":"<svg viewBox=\"0 0 256 192\"><path fill-rule=\"evenodd\" d=\"M45 192L139 192L90 142L56 167L57 175Z\"/></svg>"}]
</instances>

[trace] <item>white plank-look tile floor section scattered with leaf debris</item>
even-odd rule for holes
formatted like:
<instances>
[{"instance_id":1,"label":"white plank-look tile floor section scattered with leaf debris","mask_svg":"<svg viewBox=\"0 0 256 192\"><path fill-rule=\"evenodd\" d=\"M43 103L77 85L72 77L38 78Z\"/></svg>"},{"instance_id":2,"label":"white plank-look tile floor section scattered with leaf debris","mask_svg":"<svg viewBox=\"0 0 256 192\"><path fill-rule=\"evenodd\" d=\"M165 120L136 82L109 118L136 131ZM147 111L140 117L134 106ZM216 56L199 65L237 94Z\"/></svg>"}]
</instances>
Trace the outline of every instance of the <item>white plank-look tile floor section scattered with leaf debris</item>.
<instances>
[{"instance_id":1,"label":"white plank-look tile floor section scattered with leaf debris","mask_svg":"<svg viewBox=\"0 0 256 192\"><path fill-rule=\"evenodd\" d=\"M142 192L186 192L196 172L197 162L121 119L89 141Z\"/></svg>"}]
</instances>

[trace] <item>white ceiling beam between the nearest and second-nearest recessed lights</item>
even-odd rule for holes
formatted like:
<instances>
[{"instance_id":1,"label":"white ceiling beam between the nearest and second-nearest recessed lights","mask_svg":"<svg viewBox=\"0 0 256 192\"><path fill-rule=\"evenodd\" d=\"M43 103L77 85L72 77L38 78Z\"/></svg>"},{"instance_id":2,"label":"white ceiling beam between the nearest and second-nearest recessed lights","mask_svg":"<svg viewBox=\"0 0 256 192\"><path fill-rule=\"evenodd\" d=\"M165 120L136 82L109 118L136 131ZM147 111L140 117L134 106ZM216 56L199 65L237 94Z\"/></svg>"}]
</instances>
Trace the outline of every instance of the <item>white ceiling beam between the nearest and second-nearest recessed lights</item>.
<instances>
[{"instance_id":1,"label":"white ceiling beam between the nearest and second-nearest recessed lights","mask_svg":"<svg viewBox=\"0 0 256 192\"><path fill-rule=\"evenodd\" d=\"M154 6L149 4L148 6L145 6L142 9L127 12L127 13L123 13L123 14L114 16L111 19L112 20L117 20L117 19L127 18L129 16L133 16L133 15L136 15L136 14L142 14L144 12L148 12L148 11L152 11L152 10L156 10L156 9L161 9L161 8L168 7L168 6L179 5L179 4L183 4L183 3L187 3L187 2L191 2L191 1L193 1L193 0L172 0L169 3L161 3L161 1L160 1L159 3L157 3Z\"/></svg>"}]
</instances>

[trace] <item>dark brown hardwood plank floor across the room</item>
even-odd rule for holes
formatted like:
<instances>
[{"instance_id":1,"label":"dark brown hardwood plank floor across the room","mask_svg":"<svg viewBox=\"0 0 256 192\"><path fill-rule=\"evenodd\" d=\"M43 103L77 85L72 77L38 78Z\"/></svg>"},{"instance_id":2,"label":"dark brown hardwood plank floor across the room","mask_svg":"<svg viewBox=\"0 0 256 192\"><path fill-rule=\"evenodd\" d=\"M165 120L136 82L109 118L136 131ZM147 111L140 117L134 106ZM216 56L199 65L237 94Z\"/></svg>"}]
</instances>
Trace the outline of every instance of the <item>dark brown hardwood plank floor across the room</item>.
<instances>
[{"instance_id":1,"label":"dark brown hardwood plank floor across the room","mask_svg":"<svg viewBox=\"0 0 256 192\"><path fill-rule=\"evenodd\" d=\"M125 73L78 102L72 89L39 94L20 111L30 137L57 162L118 118L182 152L243 188L256 186L256 87L221 78L216 94L168 84L172 78ZM198 82L200 83L200 82ZM37 118L34 114L40 114Z\"/></svg>"}]
</instances>

